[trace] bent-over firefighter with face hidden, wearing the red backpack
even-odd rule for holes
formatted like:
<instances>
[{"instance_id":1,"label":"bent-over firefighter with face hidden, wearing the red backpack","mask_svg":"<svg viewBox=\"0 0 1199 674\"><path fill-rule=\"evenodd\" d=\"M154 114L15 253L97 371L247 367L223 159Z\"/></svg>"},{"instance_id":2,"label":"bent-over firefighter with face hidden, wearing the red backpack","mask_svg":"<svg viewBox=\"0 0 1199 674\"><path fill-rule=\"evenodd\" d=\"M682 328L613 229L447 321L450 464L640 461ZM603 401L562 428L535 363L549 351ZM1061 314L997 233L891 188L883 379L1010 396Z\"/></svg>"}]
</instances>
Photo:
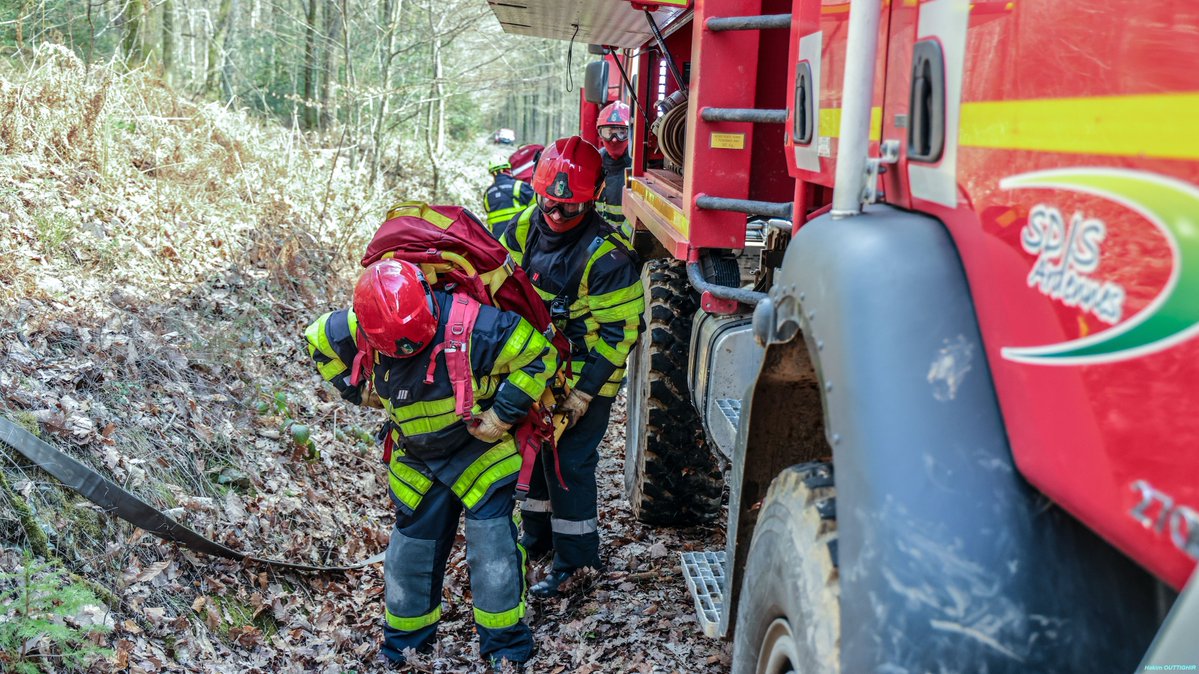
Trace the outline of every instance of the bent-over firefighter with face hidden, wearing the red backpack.
<instances>
[{"instance_id":1,"label":"bent-over firefighter with face hidden, wearing the red backpack","mask_svg":"<svg viewBox=\"0 0 1199 674\"><path fill-rule=\"evenodd\" d=\"M388 415L384 461L397 512L384 561L382 654L403 663L404 649L430 648L465 510L480 652L493 666L523 663L534 643L522 620L525 558L512 520L520 455L507 431L541 397L558 351L518 314L480 306L468 347L476 401L468 425L441 356L456 299L430 289L411 263L384 259L359 279L353 311L320 317L305 337L321 375L348 401L362 402L366 381L350 374L364 363Z\"/></svg>"}]
</instances>

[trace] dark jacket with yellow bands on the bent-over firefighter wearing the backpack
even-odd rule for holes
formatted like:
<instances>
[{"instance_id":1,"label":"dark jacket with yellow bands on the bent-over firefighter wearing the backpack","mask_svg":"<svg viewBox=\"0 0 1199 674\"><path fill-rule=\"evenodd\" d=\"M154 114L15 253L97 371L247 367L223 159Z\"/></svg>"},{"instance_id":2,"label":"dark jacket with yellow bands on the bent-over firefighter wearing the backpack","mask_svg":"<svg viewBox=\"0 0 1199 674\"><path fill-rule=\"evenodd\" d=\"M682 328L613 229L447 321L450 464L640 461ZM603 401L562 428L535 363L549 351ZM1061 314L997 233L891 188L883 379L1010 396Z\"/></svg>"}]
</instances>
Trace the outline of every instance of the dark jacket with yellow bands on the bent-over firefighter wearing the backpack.
<instances>
[{"instance_id":1,"label":"dark jacket with yellow bands on the bent-over firefighter wearing the backpack","mask_svg":"<svg viewBox=\"0 0 1199 674\"><path fill-rule=\"evenodd\" d=\"M433 480L450 485L471 508L494 487L514 480L520 470L520 455L511 435L495 445L477 440L454 411L445 355L433 357L434 348L445 342L453 295L441 290L433 294L440 314L430 343L406 359L375 354L370 372L387 413L392 499L409 512L420 505ZM354 312L321 315L305 337L321 377L337 386L343 398L361 403L366 383L354 386L349 381L350 365L359 351ZM468 348L475 391L472 414L494 409L507 423L529 411L559 366L556 349L529 321L486 305L480 307Z\"/></svg>"}]
</instances>

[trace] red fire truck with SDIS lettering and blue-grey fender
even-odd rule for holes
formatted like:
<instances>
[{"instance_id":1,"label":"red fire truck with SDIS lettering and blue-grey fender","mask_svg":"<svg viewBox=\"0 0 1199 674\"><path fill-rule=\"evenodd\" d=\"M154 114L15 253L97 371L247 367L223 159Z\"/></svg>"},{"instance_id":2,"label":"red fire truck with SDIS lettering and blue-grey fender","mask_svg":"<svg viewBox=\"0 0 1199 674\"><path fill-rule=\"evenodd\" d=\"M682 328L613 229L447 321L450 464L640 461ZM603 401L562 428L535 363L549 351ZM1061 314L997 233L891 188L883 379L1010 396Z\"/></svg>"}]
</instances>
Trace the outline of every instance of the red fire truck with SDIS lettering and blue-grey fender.
<instances>
[{"instance_id":1,"label":"red fire truck with SDIS lettering and blue-grey fender","mask_svg":"<svg viewBox=\"0 0 1199 674\"><path fill-rule=\"evenodd\" d=\"M627 497L727 488L734 673L1199 670L1199 2L489 4L633 109Z\"/></svg>"}]
</instances>

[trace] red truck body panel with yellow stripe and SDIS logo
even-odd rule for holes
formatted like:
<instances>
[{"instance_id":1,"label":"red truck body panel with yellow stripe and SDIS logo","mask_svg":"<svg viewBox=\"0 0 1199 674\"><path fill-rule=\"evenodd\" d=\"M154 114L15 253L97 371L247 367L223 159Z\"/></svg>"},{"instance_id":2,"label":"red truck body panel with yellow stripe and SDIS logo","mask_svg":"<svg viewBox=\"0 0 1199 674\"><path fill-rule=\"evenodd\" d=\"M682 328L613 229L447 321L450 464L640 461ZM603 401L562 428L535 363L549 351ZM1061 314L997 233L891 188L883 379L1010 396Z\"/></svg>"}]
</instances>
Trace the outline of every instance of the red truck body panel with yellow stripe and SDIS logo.
<instances>
[{"instance_id":1,"label":"red truck body panel with yellow stripe and SDIS logo","mask_svg":"<svg viewBox=\"0 0 1199 674\"><path fill-rule=\"evenodd\" d=\"M953 236L1020 471L1181 588L1199 559L1199 287L1183 266L1199 264L1199 41L1180 28L1199 7L935 0L892 17L882 137L908 142L917 41L944 49L951 119L941 161L902 152L887 200Z\"/></svg>"}]
</instances>

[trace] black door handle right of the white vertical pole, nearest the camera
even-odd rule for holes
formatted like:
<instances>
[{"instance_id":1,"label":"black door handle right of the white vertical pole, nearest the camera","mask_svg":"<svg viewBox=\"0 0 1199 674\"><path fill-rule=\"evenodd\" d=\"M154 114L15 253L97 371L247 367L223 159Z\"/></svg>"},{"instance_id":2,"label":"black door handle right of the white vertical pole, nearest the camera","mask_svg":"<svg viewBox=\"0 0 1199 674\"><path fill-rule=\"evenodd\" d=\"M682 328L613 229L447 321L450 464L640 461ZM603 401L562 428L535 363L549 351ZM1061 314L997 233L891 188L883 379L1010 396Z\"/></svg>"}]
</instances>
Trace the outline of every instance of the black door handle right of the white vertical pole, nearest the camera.
<instances>
[{"instance_id":1,"label":"black door handle right of the white vertical pole, nearest the camera","mask_svg":"<svg viewBox=\"0 0 1199 674\"><path fill-rule=\"evenodd\" d=\"M938 162L945 151L945 59L935 40L917 42L911 59L908 158Z\"/></svg>"}]
</instances>

